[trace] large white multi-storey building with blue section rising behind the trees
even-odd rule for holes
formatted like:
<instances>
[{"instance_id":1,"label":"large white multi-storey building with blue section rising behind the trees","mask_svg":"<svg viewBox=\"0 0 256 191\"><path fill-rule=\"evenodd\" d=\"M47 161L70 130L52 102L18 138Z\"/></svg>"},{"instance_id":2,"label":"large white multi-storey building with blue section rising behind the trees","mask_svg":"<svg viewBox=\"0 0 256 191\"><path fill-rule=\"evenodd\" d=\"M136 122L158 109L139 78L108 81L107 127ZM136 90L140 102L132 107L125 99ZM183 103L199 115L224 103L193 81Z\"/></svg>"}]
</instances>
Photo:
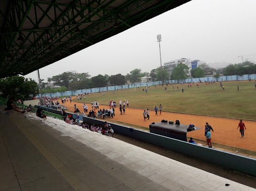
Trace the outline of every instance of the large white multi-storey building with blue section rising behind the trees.
<instances>
[{"instance_id":1,"label":"large white multi-storey building with blue section rising behind the trees","mask_svg":"<svg viewBox=\"0 0 256 191\"><path fill-rule=\"evenodd\" d=\"M186 64L189 68L188 76L190 76L191 75L190 70L197 68L202 63L204 62L200 60L191 61L191 59L189 58L181 58L181 59L172 60L169 62L164 62L164 67L167 69L169 75L171 75L173 68L175 68L178 64Z\"/></svg>"}]
</instances>

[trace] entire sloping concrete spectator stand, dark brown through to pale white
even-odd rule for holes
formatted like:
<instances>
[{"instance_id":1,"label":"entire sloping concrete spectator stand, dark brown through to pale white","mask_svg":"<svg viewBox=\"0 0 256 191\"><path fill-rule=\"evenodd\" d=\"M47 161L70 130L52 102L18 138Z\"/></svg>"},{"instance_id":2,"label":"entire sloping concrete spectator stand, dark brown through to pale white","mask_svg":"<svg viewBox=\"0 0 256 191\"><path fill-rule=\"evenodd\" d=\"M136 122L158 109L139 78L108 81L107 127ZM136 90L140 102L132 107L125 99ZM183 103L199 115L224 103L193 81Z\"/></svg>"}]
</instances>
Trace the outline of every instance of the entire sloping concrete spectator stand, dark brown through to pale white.
<instances>
[{"instance_id":1,"label":"entire sloping concrete spectator stand, dark brown through to pale white","mask_svg":"<svg viewBox=\"0 0 256 191\"><path fill-rule=\"evenodd\" d=\"M11 112L0 122L17 190L256 190L64 121Z\"/></svg>"}]
</instances>

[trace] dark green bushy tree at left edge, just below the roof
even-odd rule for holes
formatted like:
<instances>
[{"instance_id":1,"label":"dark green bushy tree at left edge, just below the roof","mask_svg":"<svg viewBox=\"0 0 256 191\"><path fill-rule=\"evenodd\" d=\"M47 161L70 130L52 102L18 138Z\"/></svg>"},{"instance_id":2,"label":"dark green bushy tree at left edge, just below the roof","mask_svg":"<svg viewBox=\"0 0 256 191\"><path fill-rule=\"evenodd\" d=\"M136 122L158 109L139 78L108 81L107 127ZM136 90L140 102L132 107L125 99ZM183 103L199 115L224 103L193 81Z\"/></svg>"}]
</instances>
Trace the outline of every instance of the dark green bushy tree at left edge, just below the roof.
<instances>
[{"instance_id":1,"label":"dark green bushy tree at left edge, just below the roof","mask_svg":"<svg viewBox=\"0 0 256 191\"><path fill-rule=\"evenodd\" d=\"M38 94L35 80L23 76L12 76L0 79L0 97L29 100Z\"/></svg>"}]
</instances>

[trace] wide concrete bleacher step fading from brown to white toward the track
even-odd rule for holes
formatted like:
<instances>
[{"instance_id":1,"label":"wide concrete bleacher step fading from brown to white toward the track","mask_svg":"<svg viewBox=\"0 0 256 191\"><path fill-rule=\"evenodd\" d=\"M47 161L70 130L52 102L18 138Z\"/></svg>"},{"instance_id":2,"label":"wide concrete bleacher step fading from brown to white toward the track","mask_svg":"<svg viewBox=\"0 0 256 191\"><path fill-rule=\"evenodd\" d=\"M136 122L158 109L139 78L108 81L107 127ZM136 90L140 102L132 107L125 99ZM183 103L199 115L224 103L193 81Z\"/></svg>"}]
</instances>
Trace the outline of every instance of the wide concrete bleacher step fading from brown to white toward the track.
<instances>
[{"instance_id":1,"label":"wide concrete bleacher step fading from brown to white toward the track","mask_svg":"<svg viewBox=\"0 0 256 191\"><path fill-rule=\"evenodd\" d=\"M76 190L255 190L64 121L26 118L14 122Z\"/></svg>"}]
</instances>

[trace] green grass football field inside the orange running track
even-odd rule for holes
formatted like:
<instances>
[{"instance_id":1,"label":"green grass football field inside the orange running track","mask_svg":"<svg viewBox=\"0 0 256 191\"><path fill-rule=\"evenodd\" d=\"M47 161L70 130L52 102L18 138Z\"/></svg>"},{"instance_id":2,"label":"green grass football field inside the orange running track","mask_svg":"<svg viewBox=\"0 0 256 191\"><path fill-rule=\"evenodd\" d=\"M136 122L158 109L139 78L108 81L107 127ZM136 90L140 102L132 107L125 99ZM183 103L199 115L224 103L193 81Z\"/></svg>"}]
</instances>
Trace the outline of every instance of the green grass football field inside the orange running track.
<instances>
[{"instance_id":1,"label":"green grass football field inside the orange running track","mask_svg":"<svg viewBox=\"0 0 256 191\"><path fill-rule=\"evenodd\" d=\"M151 86L147 93L142 91L143 87L132 89L118 90L115 94L112 91L106 92L105 96L101 93L94 93L86 96L86 99L75 102L91 103L96 100L100 105L108 105L109 101L117 102L121 100L129 101L129 107L140 109L151 109L155 106L163 106L163 111L199 114L204 116L216 116L235 119L256 120L256 90L254 82L236 81L223 82L225 90L220 87L220 82L199 83L188 87L187 84L176 84L174 89L172 85ZM239 92L237 91L239 85ZM177 86L179 89L177 89ZM145 87L144 87L145 88ZM184 88L184 93L182 93Z\"/></svg>"}]
</instances>

